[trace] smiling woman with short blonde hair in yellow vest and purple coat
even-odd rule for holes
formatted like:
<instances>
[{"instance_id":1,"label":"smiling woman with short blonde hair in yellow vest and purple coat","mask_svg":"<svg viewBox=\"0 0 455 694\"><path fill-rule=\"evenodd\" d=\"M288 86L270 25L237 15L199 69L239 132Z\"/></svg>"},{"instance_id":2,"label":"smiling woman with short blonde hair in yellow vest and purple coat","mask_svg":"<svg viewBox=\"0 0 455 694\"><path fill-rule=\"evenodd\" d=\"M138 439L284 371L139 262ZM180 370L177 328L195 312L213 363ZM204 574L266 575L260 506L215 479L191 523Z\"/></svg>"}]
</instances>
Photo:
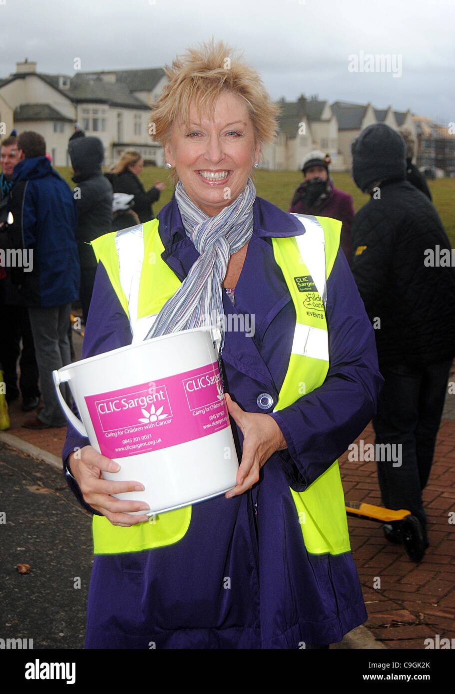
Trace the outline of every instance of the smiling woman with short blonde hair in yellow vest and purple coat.
<instances>
[{"instance_id":1,"label":"smiling woman with short blonde hair in yellow vest and purple coat","mask_svg":"<svg viewBox=\"0 0 455 694\"><path fill-rule=\"evenodd\" d=\"M241 462L225 496L147 523L131 515L146 505L113 496L140 482L104 480L112 461L69 427L67 479L94 515L85 645L328 648L367 616L336 458L374 412L374 332L339 251L341 223L256 196L251 172L278 115L257 71L210 42L166 74L151 124L175 193L158 219L93 242L83 357L213 316L218 364L182 397L202 412L215 378L201 436L222 404ZM142 409L150 421L169 412ZM232 451L221 454L229 464Z\"/></svg>"}]
</instances>

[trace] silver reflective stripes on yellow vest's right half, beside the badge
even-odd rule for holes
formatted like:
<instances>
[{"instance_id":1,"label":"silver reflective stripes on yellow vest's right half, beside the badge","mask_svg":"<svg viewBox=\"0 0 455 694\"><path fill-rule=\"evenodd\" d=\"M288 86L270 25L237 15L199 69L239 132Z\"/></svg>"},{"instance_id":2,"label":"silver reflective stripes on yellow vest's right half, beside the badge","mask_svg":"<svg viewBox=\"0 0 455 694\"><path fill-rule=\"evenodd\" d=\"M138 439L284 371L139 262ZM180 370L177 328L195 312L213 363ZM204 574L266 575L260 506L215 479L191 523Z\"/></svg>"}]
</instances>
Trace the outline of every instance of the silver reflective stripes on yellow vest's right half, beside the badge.
<instances>
[{"instance_id":1,"label":"silver reflective stripes on yellow vest's right half, beside the badge","mask_svg":"<svg viewBox=\"0 0 455 694\"><path fill-rule=\"evenodd\" d=\"M295 237L301 260L306 264L324 307L327 303L324 229L309 214L294 214L303 224L305 233ZM322 328L296 323L292 354L329 361L329 333Z\"/></svg>"}]
</instances>

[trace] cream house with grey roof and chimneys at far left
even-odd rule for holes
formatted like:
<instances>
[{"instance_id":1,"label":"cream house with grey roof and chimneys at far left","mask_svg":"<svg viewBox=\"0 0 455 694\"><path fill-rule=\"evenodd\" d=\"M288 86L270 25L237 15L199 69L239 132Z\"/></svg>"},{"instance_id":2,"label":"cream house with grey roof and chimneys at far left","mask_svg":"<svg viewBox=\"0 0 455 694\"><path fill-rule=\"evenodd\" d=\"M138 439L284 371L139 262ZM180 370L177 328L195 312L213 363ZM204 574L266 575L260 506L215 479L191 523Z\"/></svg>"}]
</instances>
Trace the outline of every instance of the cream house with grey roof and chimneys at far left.
<instances>
[{"instance_id":1,"label":"cream house with grey roof and chimneys at far left","mask_svg":"<svg viewBox=\"0 0 455 694\"><path fill-rule=\"evenodd\" d=\"M166 80L162 68L48 75L37 71L36 62L25 60L0 81L0 114L9 108L18 133L35 130L43 135L56 166L70 163L67 145L76 122L87 135L101 139L106 164L124 150L136 149L147 163L162 165L163 149L149 137L149 104Z\"/></svg>"}]
</instances>

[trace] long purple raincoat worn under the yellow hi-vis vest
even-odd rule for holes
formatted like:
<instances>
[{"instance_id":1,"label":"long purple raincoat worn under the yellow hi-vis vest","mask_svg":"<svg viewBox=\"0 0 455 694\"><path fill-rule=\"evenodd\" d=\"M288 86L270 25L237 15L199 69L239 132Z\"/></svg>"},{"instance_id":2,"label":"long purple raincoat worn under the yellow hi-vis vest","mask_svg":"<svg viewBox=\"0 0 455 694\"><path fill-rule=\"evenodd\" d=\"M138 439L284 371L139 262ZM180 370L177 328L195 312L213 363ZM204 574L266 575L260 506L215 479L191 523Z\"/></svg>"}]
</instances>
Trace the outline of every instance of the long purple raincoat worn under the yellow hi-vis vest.
<instances>
[{"instance_id":1,"label":"long purple raincoat worn under the yellow hi-vis vest","mask_svg":"<svg viewBox=\"0 0 455 694\"><path fill-rule=\"evenodd\" d=\"M175 198L158 219L163 260L183 280L199 253ZM226 332L222 350L226 392L247 412L264 412L261 393L272 396L272 412L295 327L271 237L301 233L295 217L256 198L235 307L223 293L227 317L255 316L254 337ZM326 319L329 373L320 388L272 415L288 449L270 457L259 482L240 496L193 505L190 527L177 543L94 556L85 648L150 648L153 641L156 648L297 649L302 642L340 641L366 620L351 552L308 554L289 489L304 491L356 439L375 412L383 382L372 325L341 250L327 282ZM99 264L83 357L126 344L129 321ZM69 425L64 461L88 443ZM76 481L65 476L81 500Z\"/></svg>"}]
</instances>

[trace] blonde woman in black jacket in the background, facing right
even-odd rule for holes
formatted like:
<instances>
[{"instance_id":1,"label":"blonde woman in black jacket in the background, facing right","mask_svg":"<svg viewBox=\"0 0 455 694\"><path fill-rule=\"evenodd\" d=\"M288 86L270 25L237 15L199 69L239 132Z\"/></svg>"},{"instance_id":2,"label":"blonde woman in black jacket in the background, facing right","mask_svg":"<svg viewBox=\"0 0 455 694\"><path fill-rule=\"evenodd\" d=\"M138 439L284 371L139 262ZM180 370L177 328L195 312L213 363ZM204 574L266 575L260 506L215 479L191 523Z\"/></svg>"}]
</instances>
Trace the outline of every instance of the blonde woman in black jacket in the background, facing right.
<instances>
[{"instance_id":1,"label":"blonde woman in black jacket in the background, facing right","mask_svg":"<svg viewBox=\"0 0 455 694\"><path fill-rule=\"evenodd\" d=\"M166 184L157 180L146 192L139 178L142 171L144 171L144 160L138 152L129 149L122 154L106 177L112 183L113 192L134 196L133 210L140 221L144 222L154 218L151 203L156 203L160 199L160 193L165 189Z\"/></svg>"}]
</instances>

